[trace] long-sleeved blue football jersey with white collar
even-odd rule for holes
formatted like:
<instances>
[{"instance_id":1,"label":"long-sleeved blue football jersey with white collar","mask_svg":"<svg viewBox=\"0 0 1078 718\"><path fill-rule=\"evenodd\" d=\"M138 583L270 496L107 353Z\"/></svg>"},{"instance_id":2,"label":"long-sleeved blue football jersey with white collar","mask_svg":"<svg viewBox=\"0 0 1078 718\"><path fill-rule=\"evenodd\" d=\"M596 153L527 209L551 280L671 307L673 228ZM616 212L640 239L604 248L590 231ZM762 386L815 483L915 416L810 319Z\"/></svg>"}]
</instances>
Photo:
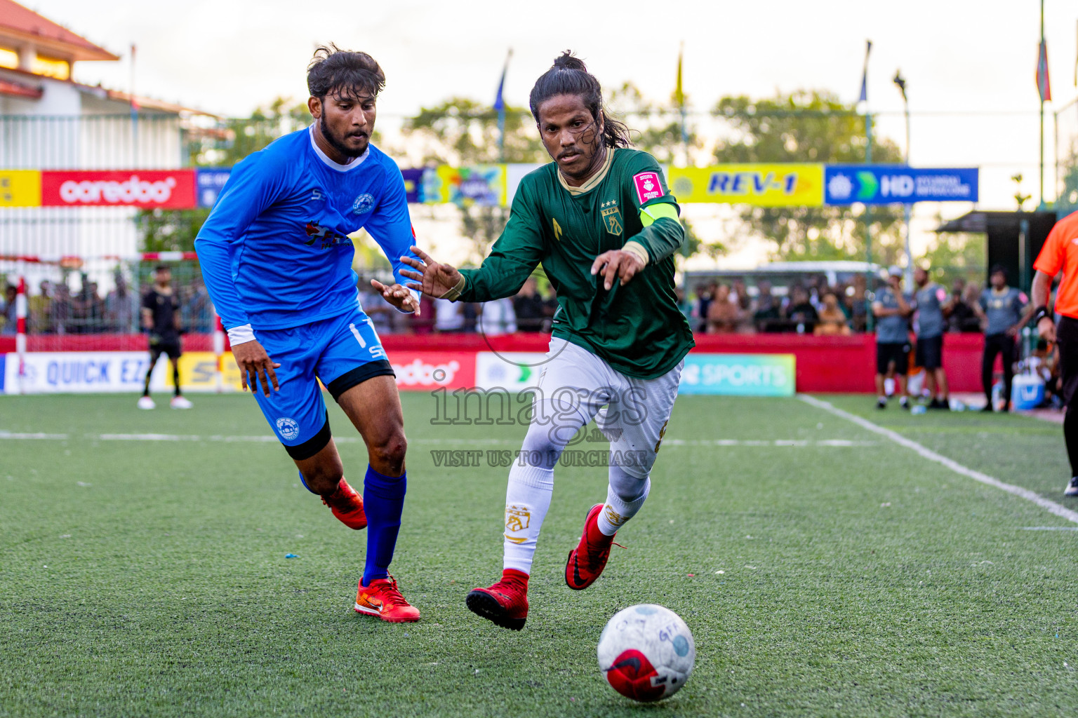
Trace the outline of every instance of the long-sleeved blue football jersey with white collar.
<instances>
[{"instance_id":1,"label":"long-sleeved blue football jersey with white collar","mask_svg":"<svg viewBox=\"0 0 1078 718\"><path fill-rule=\"evenodd\" d=\"M318 149L314 126L232 170L195 250L225 328L282 329L356 308L348 235L367 231L397 282L415 242L397 164L370 145L348 165Z\"/></svg>"}]
</instances>

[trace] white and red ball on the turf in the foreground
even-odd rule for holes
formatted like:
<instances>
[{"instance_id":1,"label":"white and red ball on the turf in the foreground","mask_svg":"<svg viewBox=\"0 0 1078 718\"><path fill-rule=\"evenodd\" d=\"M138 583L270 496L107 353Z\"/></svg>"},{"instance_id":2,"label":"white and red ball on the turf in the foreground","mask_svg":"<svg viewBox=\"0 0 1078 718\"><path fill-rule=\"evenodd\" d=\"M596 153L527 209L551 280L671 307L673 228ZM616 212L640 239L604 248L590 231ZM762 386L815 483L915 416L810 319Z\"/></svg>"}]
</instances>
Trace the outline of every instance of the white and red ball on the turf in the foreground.
<instances>
[{"instance_id":1,"label":"white and red ball on the turf in the foreground","mask_svg":"<svg viewBox=\"0 0 1078 718\"><path fill-rule=\"evenodd\" d=\"M681 690L696 660L689 627L669 608L640 604L620 610L599 636L599 670L634 701L652 702Z\"/></svg>"}]
</instances>

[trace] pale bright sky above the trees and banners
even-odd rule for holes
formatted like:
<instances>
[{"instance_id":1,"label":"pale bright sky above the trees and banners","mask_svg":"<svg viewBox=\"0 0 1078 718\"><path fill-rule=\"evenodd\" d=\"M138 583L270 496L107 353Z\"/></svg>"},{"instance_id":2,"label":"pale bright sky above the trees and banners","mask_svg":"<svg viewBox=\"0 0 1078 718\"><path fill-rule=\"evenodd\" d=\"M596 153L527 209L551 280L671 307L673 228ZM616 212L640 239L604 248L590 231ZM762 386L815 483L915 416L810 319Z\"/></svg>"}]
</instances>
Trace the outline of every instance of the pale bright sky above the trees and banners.
<instances>
[{"instance_id":1,"label":"pale bright sky above the trees and banners","mask_svg":"<svg viewBox=\"0 0 1078 718\"><path fill-rule=\"evenodd\" d=\"M685 90L696 111L724 95L799 88L828 89L853 102L870 39L869 108L879 113L876 130L903 147L902 100L892 83L897 69L908 82L911 165L980 167L982 209L1014 208L1010 178L1017 172L1034 203L1039 192L1034 73L1040 17L1039 3L1031 0L622 0L549 10L512 0L24 2L122 56L120 62L77 65L77 80L128 88L129 46L136 43L139 94L217 114L245 115L277 96L305 98L306 65L320 43L363 50L386 72L378 112L387 128L450 96L493 101L510 47L506 98L517 105L526 104L535 79L565 48L576 51L606 87L631 80L646 96L664 100L674 88L681 43ZM1051 199L1052 113L1078 96L1078 3L1046 0L1045 15L1055 99L1046 105ZM1062 117L1078 136L1078 105ZM718 217L716 209L697 212ZM918 205L914 249L930 241L941 213L968 209Z\"/></svg>"}]
</instances>

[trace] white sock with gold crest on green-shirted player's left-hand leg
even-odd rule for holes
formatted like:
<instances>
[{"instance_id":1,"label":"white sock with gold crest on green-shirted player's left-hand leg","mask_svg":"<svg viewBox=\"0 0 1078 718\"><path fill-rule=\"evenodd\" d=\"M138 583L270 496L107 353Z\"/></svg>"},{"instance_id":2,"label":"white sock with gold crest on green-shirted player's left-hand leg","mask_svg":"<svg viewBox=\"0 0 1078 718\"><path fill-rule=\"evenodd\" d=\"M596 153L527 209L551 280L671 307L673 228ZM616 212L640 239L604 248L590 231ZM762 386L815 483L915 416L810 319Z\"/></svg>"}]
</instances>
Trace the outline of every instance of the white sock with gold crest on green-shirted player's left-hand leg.
<instances>
[{"instance_id":1,"label":"white sock with gold crest on green-shirted player's left-hand leg","mask_svg":"<svg viewBox=\"0 0 1078 718\"><path fill-rule=\"evenodd\" d=\"M550 509L554 494L554 468L545 462L524 466L513 462L506 488L505 558L502 568L515 568L531 574L539 530Z\"/></svg>"}]
</instances>

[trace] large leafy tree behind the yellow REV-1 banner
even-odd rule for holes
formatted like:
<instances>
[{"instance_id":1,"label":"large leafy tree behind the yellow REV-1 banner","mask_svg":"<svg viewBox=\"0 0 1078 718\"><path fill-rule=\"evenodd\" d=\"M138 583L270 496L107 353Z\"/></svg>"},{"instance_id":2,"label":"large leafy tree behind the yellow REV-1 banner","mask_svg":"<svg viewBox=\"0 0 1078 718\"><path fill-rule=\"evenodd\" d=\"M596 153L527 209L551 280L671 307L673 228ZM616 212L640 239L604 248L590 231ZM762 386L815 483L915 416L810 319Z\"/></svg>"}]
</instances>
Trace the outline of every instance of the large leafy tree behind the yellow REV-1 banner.
<instances>
[{"instance_id":1,"label":"large leafy tree behind the yellow REV-1 banner","mask_svg":"<svg viewBox=\"0 0 1078 718\"><path fill-rule=\"evenodd\" d=\"M731 129L715 151L720 163L865 161L863 118L831 93L724 97L713 114ZM890 140L877 139L872 159L901 163L902 154ZM741 219L774 243L775 258L860 259L869 227L873 261L894 264L902 252L902 211L894 207L745 207Z\"/></svg>"}]
</instances>

